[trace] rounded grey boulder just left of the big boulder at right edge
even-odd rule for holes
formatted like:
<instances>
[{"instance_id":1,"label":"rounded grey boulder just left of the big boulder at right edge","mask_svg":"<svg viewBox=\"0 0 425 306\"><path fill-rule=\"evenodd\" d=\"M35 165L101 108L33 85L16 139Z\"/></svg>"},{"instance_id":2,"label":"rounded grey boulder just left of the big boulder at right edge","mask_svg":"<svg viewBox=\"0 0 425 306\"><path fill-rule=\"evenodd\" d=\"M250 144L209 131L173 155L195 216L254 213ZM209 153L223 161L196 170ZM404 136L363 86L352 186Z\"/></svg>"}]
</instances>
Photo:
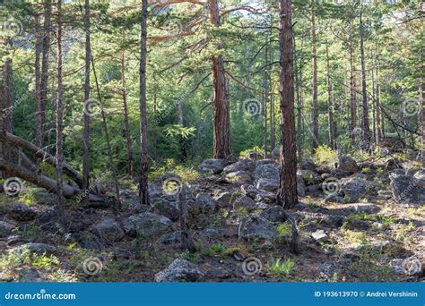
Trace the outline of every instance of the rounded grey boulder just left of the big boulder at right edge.
<instances>
[{"instance_id":1,"label":"rounded grey boulder just left of the big boulder at right edge","mask_svg":"<svg viewBox=\"0 0 425 306\"><path fill-rule=\"evenodd\" d=\"M358 201L377 191L377 183L361 179L359 175L343 178L341 185L344 199L350 202Z\"/></svg>"}]
</instances>

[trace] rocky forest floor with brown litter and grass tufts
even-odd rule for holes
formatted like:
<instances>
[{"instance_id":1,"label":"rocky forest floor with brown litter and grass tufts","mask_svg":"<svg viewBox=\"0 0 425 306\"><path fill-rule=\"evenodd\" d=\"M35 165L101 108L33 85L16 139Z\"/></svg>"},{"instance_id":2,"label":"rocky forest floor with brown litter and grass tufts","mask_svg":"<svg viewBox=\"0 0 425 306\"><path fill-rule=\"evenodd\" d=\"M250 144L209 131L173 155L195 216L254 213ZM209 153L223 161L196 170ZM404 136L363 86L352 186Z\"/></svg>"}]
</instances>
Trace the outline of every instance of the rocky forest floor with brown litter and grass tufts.
<instances>
[{"instance_id":1,"label":"rocky forest floor with brown litter and grass tufts","mask_svg":"<svg viewBox=\"0 0 425 306\"><path fill-rule=\"evenodd\" d=\"M152 200L166 205L140 207L135 183L121 180L124 213L114 216L110 208L83 208L66 200L64 230L57 222L55 195L26 184L19 197L0 195L0 281L152 282L175 259L194 263L189 269L210 282L423 281L418 265L425 257L425 206L396 203L384 171L360 166L359 172L363 180L376 182L376 189L351 203L325 200L320 182L307 179L299 205L289 211L299 228L299 255L289 251L291 225L273 207L273 197L244 197L251 178L243 175L236 180L229 174L197 175L189 183L194 199L206 194L201 205L213 205L212 211L191 213L193 253L179 248L178 210L167 206L176 200L173 195ZM199 199L190 197L195 206ZM153 221L157 232L134 236L126 220L145 212L166 215L172 224L167 219L156 228ZM247 239L240 224L250 217L254 227L248 232L258 233ZM263 224L265 219L270 223ZM137 231L151 231L143 226ZM197 272L184 273L190 276L186 281L198 280Z\"/></svg>"}]
</instances>

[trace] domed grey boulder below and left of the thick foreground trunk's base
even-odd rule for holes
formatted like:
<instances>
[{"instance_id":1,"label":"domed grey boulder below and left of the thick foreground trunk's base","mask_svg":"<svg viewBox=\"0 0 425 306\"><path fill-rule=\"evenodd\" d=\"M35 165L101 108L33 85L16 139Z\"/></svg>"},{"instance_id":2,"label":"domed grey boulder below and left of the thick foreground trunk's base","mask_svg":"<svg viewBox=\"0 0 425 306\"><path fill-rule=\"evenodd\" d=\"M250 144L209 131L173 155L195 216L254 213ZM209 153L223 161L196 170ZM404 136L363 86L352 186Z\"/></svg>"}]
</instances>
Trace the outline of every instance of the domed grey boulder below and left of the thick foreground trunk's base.
<instances>
[{"instance_id":1,"label":"domed grey boulder below and left of the thick foreground trunk's base","mask_svg":"<svg viewBox=\"0 0 425 306\"><path fill-rule=\"evenodd\" d=\"M264 217L257 215L245 217L239 225L239 238L273 240L277 237L277 231Z\"/></svg>"}]
</instances>

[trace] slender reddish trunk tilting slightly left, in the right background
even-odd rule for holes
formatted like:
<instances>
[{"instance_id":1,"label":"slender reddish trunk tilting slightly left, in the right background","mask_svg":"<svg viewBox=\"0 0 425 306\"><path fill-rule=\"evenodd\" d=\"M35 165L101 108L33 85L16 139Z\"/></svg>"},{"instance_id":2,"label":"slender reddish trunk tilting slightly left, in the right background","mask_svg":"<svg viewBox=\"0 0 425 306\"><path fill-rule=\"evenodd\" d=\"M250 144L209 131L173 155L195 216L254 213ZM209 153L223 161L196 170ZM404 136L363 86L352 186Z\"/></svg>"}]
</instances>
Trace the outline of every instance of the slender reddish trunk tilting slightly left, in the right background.
<instances>
[{"instance_id":1,"label":"slender reddish trunk tilting slightly left, in the right background","mask_svg":"<svg viewBox=\"0 0 425 306\"><path fill-rule=\"evenodd\" d=\"M360 11L360 61L361 61L361 137L364 149L369 149L370 128L369 128L369 105L368 91L366 89L366 59L364 50L364 29Z\"/></svg>"}]
</instances>

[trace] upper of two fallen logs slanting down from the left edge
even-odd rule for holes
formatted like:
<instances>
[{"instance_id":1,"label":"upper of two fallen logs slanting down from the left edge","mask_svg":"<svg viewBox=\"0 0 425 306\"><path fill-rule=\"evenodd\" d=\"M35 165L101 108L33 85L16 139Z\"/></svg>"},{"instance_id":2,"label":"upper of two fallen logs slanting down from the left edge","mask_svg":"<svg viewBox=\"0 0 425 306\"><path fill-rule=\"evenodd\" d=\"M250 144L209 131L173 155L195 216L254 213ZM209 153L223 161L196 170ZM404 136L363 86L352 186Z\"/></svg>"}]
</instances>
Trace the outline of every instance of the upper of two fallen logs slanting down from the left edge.
<instances>
[{"instance_id":1,"label":"upper of two fallen logs slanting down from the left edge","mask_svg":"<svg viewBox=\"0 0 425 306\"><path fill-rule=\"evenodd\" d=\"M43 149L40 149L36 145L32 144L30 141L24 140L21 137L11 134L10 132L0 133L0 140L4 140L22 149L28 149L35 157L42 159L50 166L56 167L56 158L48 154L48 152L44 151ZM75 171L66 163L64 163L64 174L66 174L66 176L72 179L78 185L78 187L82 189L82 177L77 171Z\"/></svg>"}]
</instances>

